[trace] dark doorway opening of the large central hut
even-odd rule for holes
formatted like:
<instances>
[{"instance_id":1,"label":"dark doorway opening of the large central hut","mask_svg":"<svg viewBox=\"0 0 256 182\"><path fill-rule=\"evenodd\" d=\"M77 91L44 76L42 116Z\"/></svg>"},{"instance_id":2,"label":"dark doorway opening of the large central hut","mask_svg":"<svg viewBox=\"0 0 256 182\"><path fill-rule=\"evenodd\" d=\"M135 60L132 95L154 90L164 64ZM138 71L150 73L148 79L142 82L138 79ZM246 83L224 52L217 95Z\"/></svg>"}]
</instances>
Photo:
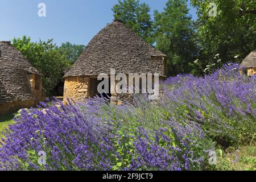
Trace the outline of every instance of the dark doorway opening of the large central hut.
<instances>
[{"instance_id":1,"label":"dark doorway opening of the large central hut","mask_svg":"<svg viewBox=\"0 0 256 182\"><path fill-rule=\"evenodd\" d=\"M91 78L90 79L90 97L105 97L107 99L110 100L110 97L112 96L110 93L110 79L109 79L109 88L108 88L108 93L102 93L100 94L98 92L98 84L100 84L101 81L104 81L104 79L102 80L97 80L97 78ZM102 87L102 89L105 89L104 86Z\"/></svg>"}]
</instances>

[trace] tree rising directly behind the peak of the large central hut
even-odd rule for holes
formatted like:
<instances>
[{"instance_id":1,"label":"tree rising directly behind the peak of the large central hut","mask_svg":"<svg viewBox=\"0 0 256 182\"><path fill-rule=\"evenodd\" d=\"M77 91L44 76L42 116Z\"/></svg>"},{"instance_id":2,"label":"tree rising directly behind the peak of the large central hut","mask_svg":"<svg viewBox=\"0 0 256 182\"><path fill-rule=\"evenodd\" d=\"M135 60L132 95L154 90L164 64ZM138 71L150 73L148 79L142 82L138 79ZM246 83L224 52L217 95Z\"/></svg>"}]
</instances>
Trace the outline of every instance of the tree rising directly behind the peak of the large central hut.
<instances>
[{"instance_id":1,"label":"tree rising directly behind the peak of the large central hut","mask_svg":"<svg viewBox=\"0 0 256 182\"><path fill-rule=\"evenodd\" d=\"M114 18L121 20L137 32L147 43L153 43L152 20L150 16L150 7L146 3L139 3L138 0L118 0L118 4L112 9Z\"/></svg>"}]
</instances>

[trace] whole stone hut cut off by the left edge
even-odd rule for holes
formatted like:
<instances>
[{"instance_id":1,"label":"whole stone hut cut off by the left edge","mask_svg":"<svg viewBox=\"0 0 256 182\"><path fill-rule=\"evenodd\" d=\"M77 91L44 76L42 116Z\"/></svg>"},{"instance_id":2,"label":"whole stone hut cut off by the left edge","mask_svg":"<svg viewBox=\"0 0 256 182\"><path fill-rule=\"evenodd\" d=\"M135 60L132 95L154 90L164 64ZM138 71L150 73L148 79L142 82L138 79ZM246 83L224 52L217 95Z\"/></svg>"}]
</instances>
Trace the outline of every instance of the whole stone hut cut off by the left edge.
<instances>
[{"instance_id":1,"label":"whole stone hut cut off by the left edge","mask_svg":"<svg viewBox=\"0 0 256 182\"><path fill-rule=\"evenodd\" d=\"M0 114L44 100L42 74L10 42L0 42Z\"/></svg>"}]
</instances>

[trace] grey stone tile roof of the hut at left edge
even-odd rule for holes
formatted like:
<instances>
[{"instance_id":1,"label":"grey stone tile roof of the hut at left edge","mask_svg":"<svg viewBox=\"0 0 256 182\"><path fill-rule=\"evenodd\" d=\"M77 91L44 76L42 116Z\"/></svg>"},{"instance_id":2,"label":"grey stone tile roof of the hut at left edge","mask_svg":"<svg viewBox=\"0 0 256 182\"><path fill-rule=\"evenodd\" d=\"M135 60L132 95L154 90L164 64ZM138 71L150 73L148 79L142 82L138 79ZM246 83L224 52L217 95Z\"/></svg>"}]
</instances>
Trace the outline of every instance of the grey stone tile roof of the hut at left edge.
<instances>
[{"instance_id":1,"label":"grey stone tile roof of the hut at left edge","mask_svg":"<svg viewBox=\"0 0 256 182\"><path fill-rule=\"evenodd\" d=\"M41 75L10 42L0 42L0 104L34 99L28 74Z\"/></svg>"}]
</instances>

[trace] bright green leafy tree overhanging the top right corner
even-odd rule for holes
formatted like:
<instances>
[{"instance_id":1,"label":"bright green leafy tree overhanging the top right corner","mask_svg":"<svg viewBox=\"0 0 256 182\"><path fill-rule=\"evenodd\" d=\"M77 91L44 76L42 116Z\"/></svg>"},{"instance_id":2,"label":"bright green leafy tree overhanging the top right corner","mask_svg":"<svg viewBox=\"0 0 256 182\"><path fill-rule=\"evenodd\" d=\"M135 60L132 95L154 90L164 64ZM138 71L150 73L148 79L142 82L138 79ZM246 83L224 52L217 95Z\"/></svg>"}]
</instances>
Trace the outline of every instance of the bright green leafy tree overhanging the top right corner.
<instances>
[{"instance_id":1,"label":"bright green leafy tree overhanging the top right corner","mask_svg":"<svg viewBox=\"0 0 256 182\"><path fill-rule=\"evenodd\" d=\"M198 9L200 61L219 53L222 63L256 49L256 1L191 0ZM212 14L212 11L215 11Z\"/></svg>"}]
</instances>

